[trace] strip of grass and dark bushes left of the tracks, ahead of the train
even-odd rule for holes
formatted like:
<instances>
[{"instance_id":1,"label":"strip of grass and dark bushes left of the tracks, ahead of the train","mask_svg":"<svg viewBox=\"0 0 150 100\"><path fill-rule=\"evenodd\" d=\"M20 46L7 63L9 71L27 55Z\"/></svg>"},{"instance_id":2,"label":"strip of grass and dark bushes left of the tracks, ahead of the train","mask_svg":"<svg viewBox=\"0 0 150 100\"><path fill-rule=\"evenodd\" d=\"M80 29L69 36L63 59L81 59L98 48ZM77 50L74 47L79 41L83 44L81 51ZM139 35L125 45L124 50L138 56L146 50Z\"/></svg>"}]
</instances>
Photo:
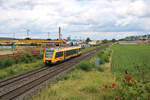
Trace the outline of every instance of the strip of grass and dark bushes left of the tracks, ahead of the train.
<instances>
[{"instance_id":1,"label":"strip of grass and dark bushes left of the tracks, ahead of the train","mask_svg":"<svg viewBox=\"0 0 150 100\"><path fill-rule=\"evenodd\" d=\"M42 55L33 57L29 53L26 53L24 56L21 56L16 60L12 58L5 58L0 61L0 79L42 66Z\"/></svg>"}]
</instances>

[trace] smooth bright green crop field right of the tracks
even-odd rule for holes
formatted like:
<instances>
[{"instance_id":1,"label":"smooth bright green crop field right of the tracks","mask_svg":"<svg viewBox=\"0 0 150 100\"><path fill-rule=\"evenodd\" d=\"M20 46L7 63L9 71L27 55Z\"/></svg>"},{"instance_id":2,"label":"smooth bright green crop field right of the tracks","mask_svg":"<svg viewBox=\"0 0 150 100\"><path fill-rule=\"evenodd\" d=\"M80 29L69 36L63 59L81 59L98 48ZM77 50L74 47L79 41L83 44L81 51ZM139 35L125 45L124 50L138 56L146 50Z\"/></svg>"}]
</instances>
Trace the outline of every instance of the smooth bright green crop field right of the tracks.
<instances>
[{"instance_id":1,"label":"smooth bright green crop field right of the tracks","mask_svg":"<svg viewBox=\"0 0 150 100\"><path fill-rule=\"evenodd\" d=\"M123 73L128 69L129 74L136 78L149 78L150 75L150 45L114 45L112 46L112 71ZM144 71L139 74L136 69Z\"/></svg>"}]
</instances>

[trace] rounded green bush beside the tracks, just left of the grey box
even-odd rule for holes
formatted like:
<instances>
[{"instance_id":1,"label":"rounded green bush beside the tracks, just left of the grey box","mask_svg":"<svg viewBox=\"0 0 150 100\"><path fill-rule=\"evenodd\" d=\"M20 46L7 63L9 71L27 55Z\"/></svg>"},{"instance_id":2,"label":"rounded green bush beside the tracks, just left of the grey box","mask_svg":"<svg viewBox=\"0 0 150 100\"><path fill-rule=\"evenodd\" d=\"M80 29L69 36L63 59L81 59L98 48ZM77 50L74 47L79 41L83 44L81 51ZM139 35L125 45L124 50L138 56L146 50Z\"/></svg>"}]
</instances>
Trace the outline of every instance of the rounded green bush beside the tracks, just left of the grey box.
<instances>
[{"instance_id":1,"label":"rounded green bush beside the tracks, just left of the grey box","mask_svg":"<svg viewBox=\"0 0 150 100\"><path fill-rule=\"evenodd\" d=\"M84 71L91 71L92 70L92 64L88 61L82 61L79 64L77 64L77 68L82 69Z\"/></svg>"}]
</instances>

